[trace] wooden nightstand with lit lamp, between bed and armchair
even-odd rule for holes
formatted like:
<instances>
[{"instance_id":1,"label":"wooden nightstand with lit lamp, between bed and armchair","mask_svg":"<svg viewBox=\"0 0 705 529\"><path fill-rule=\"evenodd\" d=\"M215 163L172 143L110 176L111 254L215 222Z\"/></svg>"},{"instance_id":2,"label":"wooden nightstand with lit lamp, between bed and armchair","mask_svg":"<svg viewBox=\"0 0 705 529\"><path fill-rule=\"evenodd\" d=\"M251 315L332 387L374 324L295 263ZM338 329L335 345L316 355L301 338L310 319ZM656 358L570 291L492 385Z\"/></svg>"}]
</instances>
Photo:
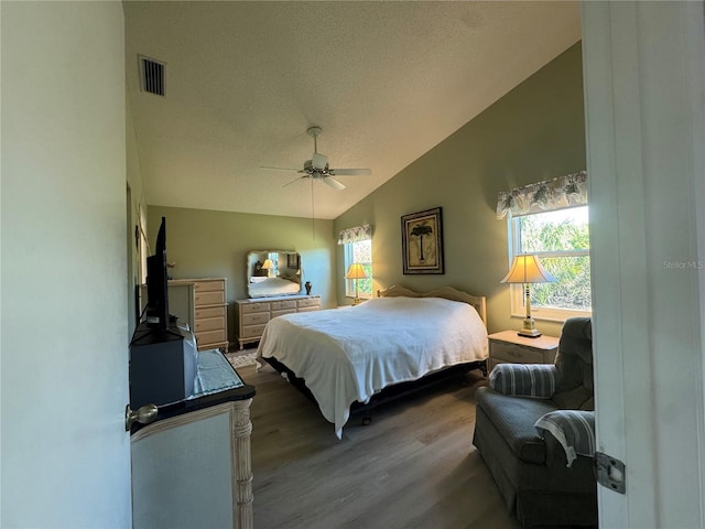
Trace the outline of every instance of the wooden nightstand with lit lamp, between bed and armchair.
<instances>
[{"instance_id":1,"label":"wooden nightstand with lit lamp, between bed and armchair","mask_svg":"<svg viewBox=\"0 0 705 529\"><path fill-rule=\"evenodd\" d=\"M527 338L519 336L517 331L502 331L490 334L488 371L497 364L553 364L558 352L558 338L555 336L539 336Z\"/></svg>"}]
</instances>

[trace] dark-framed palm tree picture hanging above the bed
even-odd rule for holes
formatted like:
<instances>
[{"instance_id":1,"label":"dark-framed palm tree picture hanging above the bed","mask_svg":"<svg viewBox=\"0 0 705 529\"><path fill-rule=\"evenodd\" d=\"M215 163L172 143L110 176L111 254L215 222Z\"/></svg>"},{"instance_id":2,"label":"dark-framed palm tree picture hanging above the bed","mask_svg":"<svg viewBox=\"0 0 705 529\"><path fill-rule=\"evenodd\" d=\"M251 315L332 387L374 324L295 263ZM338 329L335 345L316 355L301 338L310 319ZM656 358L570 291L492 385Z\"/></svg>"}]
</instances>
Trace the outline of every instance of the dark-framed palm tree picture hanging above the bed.
<instances>
[{"instance_id":1,"label":"dark-framed palm tree picture hanging above the bed","mask_svg":"<svg viewBox=\"0 0 705 529\"><path fill-rule=\"evenodd\" d=\"M445 273L443 208L434 207L401 217L403 273Z\"/></svg>"}]
</instances>

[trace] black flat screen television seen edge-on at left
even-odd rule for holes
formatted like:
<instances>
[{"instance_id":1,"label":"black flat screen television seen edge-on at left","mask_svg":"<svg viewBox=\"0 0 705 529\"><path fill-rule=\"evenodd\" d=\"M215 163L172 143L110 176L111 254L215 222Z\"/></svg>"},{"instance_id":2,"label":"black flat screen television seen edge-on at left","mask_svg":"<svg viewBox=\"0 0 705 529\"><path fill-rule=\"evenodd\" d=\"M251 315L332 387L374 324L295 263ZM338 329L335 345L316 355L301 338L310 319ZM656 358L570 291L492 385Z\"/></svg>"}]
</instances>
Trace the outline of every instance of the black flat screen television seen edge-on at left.
<instances>
[{"instance_id":1,"label":"black flat screen television seen edge-on at left","mask_svg":"<svg viewBox=\"0 0 705 529\"><path fill-rule=\"evenodd\" d=\"M169 328L169 288L166 269L166 217L156 234L154 255L147 258L147 324Z\"/></svg>"}]
</instances>

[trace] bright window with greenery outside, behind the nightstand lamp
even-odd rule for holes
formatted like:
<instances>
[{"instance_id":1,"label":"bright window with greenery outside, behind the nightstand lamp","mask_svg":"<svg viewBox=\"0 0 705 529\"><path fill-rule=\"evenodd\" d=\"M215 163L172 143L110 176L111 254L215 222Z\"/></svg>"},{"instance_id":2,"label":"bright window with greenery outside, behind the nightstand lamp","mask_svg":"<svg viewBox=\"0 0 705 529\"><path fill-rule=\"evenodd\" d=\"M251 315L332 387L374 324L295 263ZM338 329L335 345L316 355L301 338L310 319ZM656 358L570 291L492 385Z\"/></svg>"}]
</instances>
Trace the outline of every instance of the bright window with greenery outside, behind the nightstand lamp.
<instances>
[{"instance_id":1,"label":"bright window with greenery outside, behind the nightstand lamp","mask_svg":"<svg viewBox=\"0 0 705 529\"><path fill-rule=\"evenodd\" d=\"M518 253L536 255L557 279L531 284L532 315L557 321L590 315L588 206L513 217L509 230L509 262ZM511 285L511 307L513 315L525 314L521 285Z\"/></svg>"}]
</instances>

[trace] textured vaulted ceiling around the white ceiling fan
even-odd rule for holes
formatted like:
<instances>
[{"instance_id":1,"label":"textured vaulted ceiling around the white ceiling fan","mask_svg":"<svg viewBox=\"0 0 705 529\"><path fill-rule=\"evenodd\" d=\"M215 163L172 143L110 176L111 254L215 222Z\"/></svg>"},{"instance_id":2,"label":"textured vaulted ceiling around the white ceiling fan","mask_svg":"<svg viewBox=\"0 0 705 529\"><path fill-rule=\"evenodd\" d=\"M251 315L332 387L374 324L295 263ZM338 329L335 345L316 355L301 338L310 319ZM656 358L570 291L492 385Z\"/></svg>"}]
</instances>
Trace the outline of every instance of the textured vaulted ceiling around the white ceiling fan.
<instances>
[{"instance_id":1,"label":"textured vaulted ceiling around the white ceiling fan","mask_svg":"<svg viewBox=\"0 0 705 529\"><path fill-rule=\"evenodd\" d=\"M337 217L581 37L578 2L123 6L147 203L297 217ZM165 97L138 55L165 63ZM301 169L313 125L330 166L372 174L261 169Z\"/></svg>"}]
</instances>

